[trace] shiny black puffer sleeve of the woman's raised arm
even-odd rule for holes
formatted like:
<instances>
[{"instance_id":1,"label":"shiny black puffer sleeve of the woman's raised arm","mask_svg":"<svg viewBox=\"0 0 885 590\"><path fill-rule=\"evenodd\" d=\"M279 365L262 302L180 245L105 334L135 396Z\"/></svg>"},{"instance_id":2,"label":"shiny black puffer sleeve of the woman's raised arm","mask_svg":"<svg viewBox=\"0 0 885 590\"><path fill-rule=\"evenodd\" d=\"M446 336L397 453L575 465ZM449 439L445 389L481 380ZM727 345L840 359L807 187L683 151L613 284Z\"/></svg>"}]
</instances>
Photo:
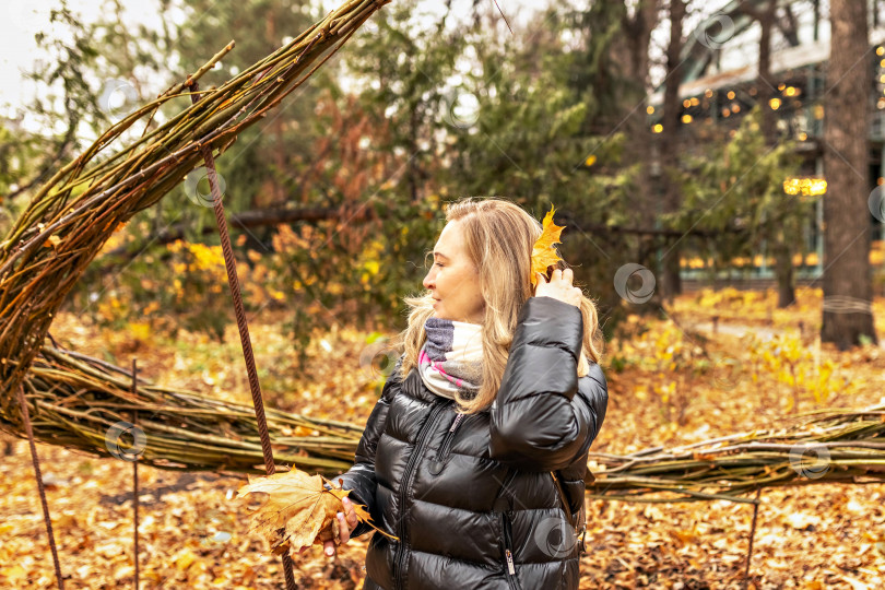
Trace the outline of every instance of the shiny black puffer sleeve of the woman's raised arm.
<instances>
[{"instance_id":1,"label":"shiny black puffer sleeve of the woman's raised arm","mask_svg":"<svg viewBox=\"0 0 885 590\"><path fill-rule=\"evenodd\" d=\"M585 379L577 394L582 338L578 307L546 296L526 302L491 410L492 459L553 471L587 452L602 425L607 392L601 369L591 364L592 379Z\"/></svg>"}]
</instances>

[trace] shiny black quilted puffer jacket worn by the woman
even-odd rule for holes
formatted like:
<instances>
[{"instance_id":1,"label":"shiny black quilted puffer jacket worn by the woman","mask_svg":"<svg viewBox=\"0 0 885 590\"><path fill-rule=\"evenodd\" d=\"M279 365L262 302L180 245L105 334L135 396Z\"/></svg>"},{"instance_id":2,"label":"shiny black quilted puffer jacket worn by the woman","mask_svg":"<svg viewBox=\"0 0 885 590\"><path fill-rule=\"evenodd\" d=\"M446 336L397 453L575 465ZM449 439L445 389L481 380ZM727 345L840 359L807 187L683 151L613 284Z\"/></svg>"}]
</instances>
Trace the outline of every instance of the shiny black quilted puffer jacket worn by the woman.
<instances>
[{"instance_id":1,"label":"shiny black quilted puffer jacket worn by the woman","mask_svg":"<svg viewBox=\"0 0 885 590\"><path fill-rule=\"evenodd\" d=\"M523 306L493 406L457 414L402 357L340 477L373 522L364 588L578 588L587 453L605 417L599 365L577 377L580 310L552 297ZM554 476L564 488L557 489ZM338 477L335 477L338 480ZM351 534L373 529L361 523Z\"/></svg>"}]
</instances>

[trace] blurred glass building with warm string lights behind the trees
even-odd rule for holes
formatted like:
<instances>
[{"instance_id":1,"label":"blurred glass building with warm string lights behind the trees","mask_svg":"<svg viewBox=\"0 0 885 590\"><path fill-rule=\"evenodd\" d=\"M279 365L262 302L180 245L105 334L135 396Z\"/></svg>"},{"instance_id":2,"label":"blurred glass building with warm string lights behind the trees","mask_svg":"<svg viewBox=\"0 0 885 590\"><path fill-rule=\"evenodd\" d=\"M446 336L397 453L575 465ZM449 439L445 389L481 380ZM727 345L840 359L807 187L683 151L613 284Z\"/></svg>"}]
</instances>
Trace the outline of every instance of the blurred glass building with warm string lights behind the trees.
<instances>
[{"instance_id":1,"label":"blurred glass building with warm string lights behind the trees","mask_svg":"<svg viewBox=\"0 0 885 590\"><path fill-rule=\"evenodd\" d=\"M691 133L704 144L723 133L733 132L743 116L757 104L759 36L758 22L742 12L742 4L762 5L767 0L733 0L704 21L692 32L683 47L683 81L680 133ZM771 73L777 91L769 108L777 113L780 138L798 141L802 170L795 179L784 179L787 190L825 192L824 120L826 109L826 66L829 58L829 13L826 0L788 0L779 2L771 32ZM885 185L885 2L871 2L871 51L869 66L874 69L874 85L870 88L869 108L870 160L866 170L870 190ZM649 125L659 131L663 86L649 96ZM883 187L885 189L885 187ZM784 192L784 196L787 193ZM826 198L824 196L823 198ZM873 229L871 262L885 266L885 225L870 214ZM798 280L815 280L823 274L823 203L815 205L813 219L807 220L802 239L810 253L795 260ZM683 261L683 275L699 275L704 262ZM754 257L753 272L757 279L774 279L768 252Z\"/></svg>"}]
</instances>

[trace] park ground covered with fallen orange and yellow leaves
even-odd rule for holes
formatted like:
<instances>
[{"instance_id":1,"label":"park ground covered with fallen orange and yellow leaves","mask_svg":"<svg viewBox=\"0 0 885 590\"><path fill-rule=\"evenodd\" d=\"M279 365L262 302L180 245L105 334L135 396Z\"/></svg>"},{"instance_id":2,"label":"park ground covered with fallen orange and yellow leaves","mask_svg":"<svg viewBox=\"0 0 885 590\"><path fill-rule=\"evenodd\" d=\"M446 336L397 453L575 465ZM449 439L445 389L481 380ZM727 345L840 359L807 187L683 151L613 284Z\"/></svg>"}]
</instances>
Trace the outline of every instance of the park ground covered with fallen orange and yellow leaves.
<instances>
[{"instance_id":1,"label":"park ground covered with fallen orange and yellow leaves","mask_svg":"<svg viewBox=\"0 0 885 590\"><path fill-rule=\"evenodd\" d=\"M798 305L778 310L772 292L706 291L683 295L666 311L632 317L605 345L609 413L591 451L681 445L787 425L796 412L885 403L885 346L821 345L821 295L800 288ZM883 338L885 300L876 300L874 314ZM365 423L384 382L358 361L375 335L333 327L318 334L309 366L299 370L280 318L262 314L250 324L269 405ZM63 315L52 337L121 366L134 356L140 375L157 382L250 400L234 326L223 342L187 332L169 341ZM131 586L132 464L37 448L66 588ZM0 587L51 588L27 444L12 440L9 451L0 452ZM240 474L140 467L142 588L283 587L280 558L248 532L236 499L245 483ZM884 507L885 484L764 491L745 579L752 505L588 499L581 588L882 588ZM339 547L333 558L317 545L297 556L299 587L362 588L368 538Z\"/></svg>"}]
</instances>

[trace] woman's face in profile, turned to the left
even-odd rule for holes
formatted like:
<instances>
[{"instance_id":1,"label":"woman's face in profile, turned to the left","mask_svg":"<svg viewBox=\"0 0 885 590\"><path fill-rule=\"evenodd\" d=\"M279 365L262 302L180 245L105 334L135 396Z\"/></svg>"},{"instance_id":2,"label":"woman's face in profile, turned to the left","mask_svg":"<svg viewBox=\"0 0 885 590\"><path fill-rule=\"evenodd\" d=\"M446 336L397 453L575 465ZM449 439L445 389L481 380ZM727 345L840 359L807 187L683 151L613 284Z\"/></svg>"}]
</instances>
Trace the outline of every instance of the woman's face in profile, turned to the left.
<instances>
[{"instance_id":1,"label":"woman's face in profile, turned to the left","mask_svg":"<svg viewBox=\"0 0 885 590\"><path fill-rule=\"evenodd\" d=\"M424 278L433 293L434 317L482 323L485 300L480 293L480 274L468 259L461 224L451 221L434 246L434 264Z\"/></svg>"}]
</instances>

